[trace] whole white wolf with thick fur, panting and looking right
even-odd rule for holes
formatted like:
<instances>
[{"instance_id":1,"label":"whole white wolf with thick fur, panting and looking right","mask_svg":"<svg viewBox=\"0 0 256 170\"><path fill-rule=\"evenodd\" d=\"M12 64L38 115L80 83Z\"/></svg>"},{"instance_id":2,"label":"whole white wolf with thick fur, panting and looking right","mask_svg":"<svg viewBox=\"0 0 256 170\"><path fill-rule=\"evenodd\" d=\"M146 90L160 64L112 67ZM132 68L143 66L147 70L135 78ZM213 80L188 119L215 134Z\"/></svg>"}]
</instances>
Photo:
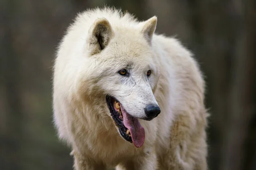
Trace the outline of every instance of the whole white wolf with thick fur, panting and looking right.
<instances>
[{"instance_id":1,"label":"whole white wolf with thick fur, panting and looking right","mask_svg":"<svg viewBox=\"0 0 256 170\"><path fill-rule=\"evenodd\" d=\"M54 65L58 134L76 170L206 170L204 80L192 54L111 8L76 17Z\"/></svg>"}]
</instances>

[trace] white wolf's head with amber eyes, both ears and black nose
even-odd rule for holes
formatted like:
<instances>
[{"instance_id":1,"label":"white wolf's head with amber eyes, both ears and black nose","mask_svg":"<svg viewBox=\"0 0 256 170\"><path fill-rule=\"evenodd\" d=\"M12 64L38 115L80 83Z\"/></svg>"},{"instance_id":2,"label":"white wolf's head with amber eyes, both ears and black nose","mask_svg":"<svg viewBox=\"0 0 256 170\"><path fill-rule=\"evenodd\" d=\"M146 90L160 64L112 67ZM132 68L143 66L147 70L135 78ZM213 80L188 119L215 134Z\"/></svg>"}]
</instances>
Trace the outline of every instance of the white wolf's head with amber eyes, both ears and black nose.
<instances>
[{"instance_id":1,"label":"white wolf's head with amber eyes, both ears and black nose","mask_svg":"<svg viewBox=\"0 0 256 170\"><path fill-rule=\"evenodd\" d=\"M151 43L156 23L157 17L152 17L136 25L112 27L106 18L99 18L88 32L84 53L90 65L84 81L93 82L90 94L104 96L107 113L112 117L121 114L125 127L131 119L151 120L160 113L154 97L159 73Z\"/></svg>"}]
</instances>

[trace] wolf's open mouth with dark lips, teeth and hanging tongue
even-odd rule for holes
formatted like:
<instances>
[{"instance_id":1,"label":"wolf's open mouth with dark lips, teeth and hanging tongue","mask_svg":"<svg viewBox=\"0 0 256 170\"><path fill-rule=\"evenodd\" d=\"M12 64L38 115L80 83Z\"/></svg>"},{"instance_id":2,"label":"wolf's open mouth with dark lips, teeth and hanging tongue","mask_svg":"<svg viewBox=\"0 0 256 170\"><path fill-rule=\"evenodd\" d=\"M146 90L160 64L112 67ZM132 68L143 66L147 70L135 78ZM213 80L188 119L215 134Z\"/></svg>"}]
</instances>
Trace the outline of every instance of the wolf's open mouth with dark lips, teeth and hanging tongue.
<instances>
[{"instance_id":1,"label":"wolf's open mouth with dark lips, teeth and hanging tongue","mask_svg":"<svg viewBox=\"0 0 256 170\"><path fill-rule=\"evenodd\" d=\"M145 140L145 130L140 125L139 119L128 114L114 97L107 95L106 101L121 136L126 141L133 143L135 147L141 147Z\"/></svg>"}]
</instances>

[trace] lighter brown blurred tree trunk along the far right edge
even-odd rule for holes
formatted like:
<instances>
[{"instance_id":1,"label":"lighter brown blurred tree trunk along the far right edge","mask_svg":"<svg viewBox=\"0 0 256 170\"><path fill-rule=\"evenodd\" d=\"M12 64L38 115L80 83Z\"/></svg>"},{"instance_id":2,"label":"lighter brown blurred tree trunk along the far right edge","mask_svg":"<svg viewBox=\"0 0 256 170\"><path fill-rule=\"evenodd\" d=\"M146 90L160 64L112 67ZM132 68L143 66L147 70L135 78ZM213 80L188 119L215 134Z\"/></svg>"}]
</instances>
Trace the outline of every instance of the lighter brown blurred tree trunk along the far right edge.
<instances>
[{"instance_id":1,"label":"lighter brown blurred tree trunk along the far right edge","mask_svg":"<svg viewBox=\"0 0 256 170\"><path fill-rule=\"evenodd\" d=\"M230 91L230 121L221 170L241 170L244 167L244 144L253 116L253 80L255 81L256 10L255 1L240 1L246 11L243 31L237 36L234 49L233 76ZM253 149L253 148L252 148Z\"/></svg>"}]
</instances>

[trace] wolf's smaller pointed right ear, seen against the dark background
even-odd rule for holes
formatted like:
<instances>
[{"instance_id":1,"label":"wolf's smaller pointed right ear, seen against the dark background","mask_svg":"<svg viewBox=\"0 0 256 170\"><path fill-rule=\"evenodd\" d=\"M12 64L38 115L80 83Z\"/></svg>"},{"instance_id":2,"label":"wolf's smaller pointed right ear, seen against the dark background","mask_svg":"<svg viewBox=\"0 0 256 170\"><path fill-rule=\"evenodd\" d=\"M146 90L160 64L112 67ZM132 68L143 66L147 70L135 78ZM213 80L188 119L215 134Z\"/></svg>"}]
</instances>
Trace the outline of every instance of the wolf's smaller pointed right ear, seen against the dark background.
<instances>
[{"instance_id":1,"label":"wolf's smaller pointed right ear, seen against the dark background","mask_svg":"<svg viewBox=\"0 0 256 170\"><path fill-rule=\"evenodd\" d=\"M140 28L141 32L144 34L148 43L151 44L152 36L157 26L157 17L156 16L151 17L141 24L142 24L142 27Z\"/></svg>"}]
</instances>

